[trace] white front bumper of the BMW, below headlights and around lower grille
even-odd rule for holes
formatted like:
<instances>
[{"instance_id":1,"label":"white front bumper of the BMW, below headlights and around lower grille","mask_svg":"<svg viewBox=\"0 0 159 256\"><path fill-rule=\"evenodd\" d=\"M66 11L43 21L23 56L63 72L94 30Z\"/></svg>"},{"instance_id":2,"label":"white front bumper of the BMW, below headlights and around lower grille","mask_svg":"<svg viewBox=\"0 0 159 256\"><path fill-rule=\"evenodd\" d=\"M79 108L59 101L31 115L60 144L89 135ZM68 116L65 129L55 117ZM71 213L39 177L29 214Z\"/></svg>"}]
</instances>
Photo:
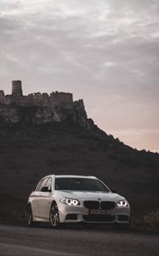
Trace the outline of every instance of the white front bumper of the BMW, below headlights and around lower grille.
<instances>
[{"instance_id":1,"label":"white front bumper of the BMW, below headlights and around lower grille","mask_svg":"<svg viewBox=\"0 0 159 256\"><path fill-rule=\"evenodd\" d=\"M60 223L105 223L105 224L129 224L130 207L115 207L107 211L106 214L90 214L88 208L80 206L67 206L60 203L58 205L60 213Z\"/></svg>"}]
</instances>

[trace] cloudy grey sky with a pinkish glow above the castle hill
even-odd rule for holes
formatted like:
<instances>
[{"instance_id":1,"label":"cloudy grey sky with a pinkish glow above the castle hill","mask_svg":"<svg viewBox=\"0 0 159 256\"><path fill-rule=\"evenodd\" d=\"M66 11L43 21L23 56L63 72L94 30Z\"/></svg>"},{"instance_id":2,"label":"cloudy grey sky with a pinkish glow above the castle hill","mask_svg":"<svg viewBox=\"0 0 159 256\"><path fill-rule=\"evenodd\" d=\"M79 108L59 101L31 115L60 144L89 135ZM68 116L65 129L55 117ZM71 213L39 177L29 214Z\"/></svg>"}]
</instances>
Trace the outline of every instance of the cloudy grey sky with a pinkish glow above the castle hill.
<instances>
[{"instance_id":1,"label":"cloudy grey sky with a pinkish glow above the castle hill","mask_svg":"<svg viewBox=\"0 0 159 256\"><path fill-rule=\"evenodd\" d=\"M88 118L159 152L159 0L0 0L0 90L65 91Z\"/></svg>"}]
</instances>

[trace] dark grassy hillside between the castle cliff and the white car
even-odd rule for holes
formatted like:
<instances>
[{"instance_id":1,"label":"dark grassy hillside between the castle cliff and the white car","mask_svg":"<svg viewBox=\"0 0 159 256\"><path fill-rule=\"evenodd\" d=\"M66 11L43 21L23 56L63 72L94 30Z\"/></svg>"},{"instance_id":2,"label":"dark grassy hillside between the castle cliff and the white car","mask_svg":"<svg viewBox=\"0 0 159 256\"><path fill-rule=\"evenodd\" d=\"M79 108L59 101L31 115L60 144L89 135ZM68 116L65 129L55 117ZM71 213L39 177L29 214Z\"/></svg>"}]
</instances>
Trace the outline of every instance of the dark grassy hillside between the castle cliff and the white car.
<instances>
[{"instance_id":1,"label":"dark grassy hillside between the castle cliff and the white car","mask_svg":"<svg viewBox=\"0 0 159 256\"><path fill-rule=\"evenodd\" d=\"M94 125L0 123L1 184L29 193L49 174L94 175L126 195L156 195L159 155L130 148Z\"/></svg>"}]
</instances>

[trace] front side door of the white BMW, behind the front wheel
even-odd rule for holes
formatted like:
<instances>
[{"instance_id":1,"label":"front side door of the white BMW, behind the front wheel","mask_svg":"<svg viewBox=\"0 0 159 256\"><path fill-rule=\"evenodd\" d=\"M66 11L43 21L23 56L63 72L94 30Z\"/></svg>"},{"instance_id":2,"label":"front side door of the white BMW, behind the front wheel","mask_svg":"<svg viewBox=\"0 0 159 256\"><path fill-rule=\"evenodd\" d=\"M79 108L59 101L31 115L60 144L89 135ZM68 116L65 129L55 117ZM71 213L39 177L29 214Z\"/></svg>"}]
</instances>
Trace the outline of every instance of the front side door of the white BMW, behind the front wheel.
<instances>
[{"instance_id":1,"label":"front side door of the white BMW, behind the front wheel","mask_svg":"<svg viewBox=\"0 0 159 256\"><path fill-rule=\"evenodd\" d=\"M49 218L49 211L53 200L52 183L52 177L48 177L48 181L45 183L45 188L48 187L48 191L42 191L43 188L41 189L41 200L39 205L41 218Z\"/></svg>"}]
</instances>

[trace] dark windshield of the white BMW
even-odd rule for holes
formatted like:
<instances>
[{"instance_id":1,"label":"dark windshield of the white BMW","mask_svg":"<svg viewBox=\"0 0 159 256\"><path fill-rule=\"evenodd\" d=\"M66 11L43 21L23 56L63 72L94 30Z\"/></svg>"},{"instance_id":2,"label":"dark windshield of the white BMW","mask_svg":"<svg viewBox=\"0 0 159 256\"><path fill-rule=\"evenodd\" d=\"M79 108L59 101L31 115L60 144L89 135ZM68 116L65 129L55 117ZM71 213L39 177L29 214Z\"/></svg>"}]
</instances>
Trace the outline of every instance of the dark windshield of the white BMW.
<instances>
[{"instance_id":1,"label":"dark windshield of the white BMW","mask_svg":"<svg viewBox=\"0 0 159 256\"><path fill-rule=\"evenodd\" d=\"M98 179L82 177L56 177L55 190L110 192Z\"/></svg>"}]
</instances>

